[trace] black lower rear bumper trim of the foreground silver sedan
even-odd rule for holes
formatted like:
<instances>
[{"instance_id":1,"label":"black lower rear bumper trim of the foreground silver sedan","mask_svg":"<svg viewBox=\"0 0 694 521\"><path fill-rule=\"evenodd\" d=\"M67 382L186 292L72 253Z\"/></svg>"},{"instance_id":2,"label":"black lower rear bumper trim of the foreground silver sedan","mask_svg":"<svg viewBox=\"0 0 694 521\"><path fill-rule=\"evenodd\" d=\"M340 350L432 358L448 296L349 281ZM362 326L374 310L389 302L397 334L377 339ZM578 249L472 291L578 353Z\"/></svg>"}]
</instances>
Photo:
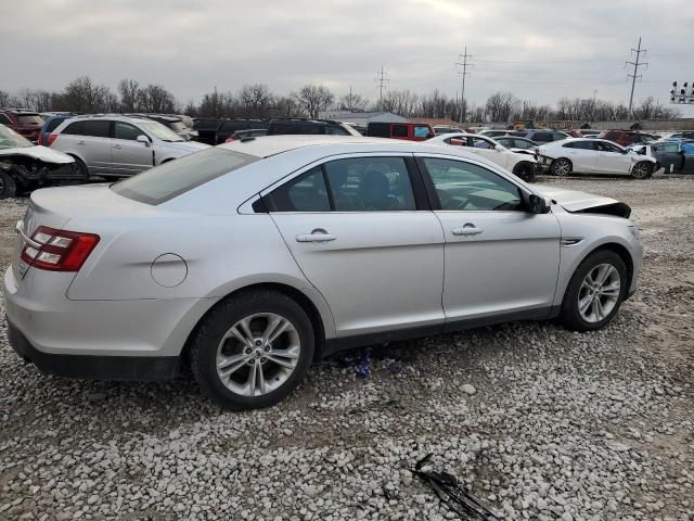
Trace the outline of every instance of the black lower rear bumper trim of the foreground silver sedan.
<instances>
[{"instance_id":1,"label":"black lower rear bumper trim of the foreground silver sedan","mask_svg":"<svg viewBox=\"0 0 694 521\"><path fill-rule=\"evenodd\" d=\"M91 380L168 380L180 370L178 356L55 355L34 347L8 320L8 338L14 352L41 372Z\"/></svg>"}]
</instances>

